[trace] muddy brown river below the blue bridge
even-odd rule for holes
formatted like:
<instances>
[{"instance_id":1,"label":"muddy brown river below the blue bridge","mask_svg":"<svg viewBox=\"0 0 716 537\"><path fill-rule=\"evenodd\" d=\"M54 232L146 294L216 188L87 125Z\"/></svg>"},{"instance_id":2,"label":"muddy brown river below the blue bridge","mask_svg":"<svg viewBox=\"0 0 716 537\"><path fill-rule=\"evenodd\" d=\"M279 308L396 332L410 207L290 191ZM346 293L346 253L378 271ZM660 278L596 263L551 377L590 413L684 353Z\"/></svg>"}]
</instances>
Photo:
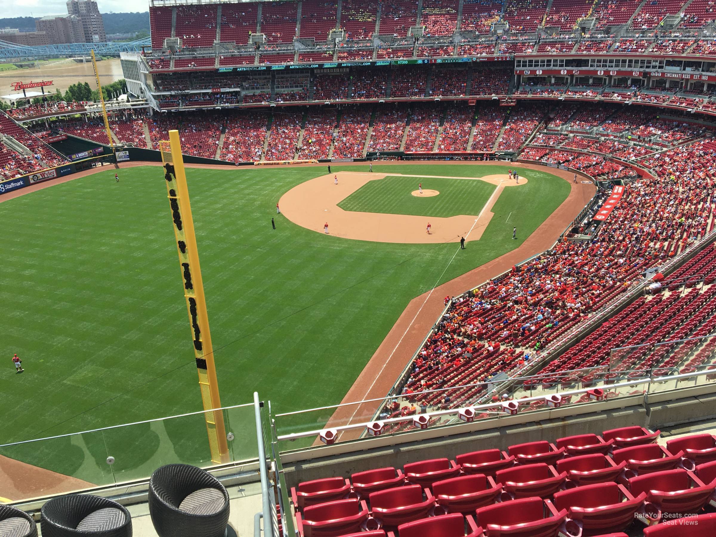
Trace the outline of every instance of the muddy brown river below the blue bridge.
<instances>
[{"instance_id":1,"label":"muddy brown river below the blue bridge","mask_svg":"<svg viewBox=\"0 0 716 537\"><path fill-rule=\"evenodd\" d=\"M100 83L102 86L110 84L122 78L122 66L120 59L104 59L97 62L97 69L100 72ZM45 93L54 93L57 88L64 93L67 87L77 82L87 82L89 87L97 89L95 82L95 71L92 69L92 62L84 64L74 60L64 60L58 63L44 64L42 67L29 69L15 69L14 71L0 71L0 95L16 93L11 87L12 82L41 82L52 80L52 86L45 87ZM39 92L39 88L28 89L30 92Z\"/></svg>"}]
</instances>

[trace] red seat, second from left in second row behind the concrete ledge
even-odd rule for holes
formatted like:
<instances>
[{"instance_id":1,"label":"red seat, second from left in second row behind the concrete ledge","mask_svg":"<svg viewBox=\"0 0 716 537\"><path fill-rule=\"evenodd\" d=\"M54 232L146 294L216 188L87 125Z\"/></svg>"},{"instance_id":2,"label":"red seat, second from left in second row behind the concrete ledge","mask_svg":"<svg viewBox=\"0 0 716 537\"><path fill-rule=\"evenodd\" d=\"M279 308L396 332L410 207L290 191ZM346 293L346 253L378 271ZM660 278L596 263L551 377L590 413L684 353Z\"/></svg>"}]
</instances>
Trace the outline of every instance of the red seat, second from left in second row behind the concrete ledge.
<instances>
[{"instance_id":1,"label":"red seat, second from left in second row behind the concrete ledge","mask_svg":"<svg viewBox=\"0 0 716 537\"><path fill-rule=\"evenodd\" d=\"M429 488L420 485L405 485L405 487L379 490L369 495L370 511L383 526L400 526L418 518L427 516L428 511L435 507L435 498Z\"/></svg>"}]
</instances>

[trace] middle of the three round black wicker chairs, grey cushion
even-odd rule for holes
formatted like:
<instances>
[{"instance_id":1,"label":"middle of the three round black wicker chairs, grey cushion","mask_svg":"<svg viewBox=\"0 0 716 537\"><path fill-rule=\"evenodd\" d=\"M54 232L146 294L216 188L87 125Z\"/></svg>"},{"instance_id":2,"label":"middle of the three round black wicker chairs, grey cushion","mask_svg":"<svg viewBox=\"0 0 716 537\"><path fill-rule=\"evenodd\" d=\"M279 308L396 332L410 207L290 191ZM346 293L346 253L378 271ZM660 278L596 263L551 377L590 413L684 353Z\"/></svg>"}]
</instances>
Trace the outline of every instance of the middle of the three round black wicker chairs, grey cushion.
<instances>
[{"instance_id":1,"label":"middle of the three round black wicker chairs, grey cushion","mask_svg":"<svg viewBox=\"0 0 716 537\"><path fill-rule=\"evenodd\" d=\"M42 537L132 537L132 517L107 498L68 494L42 506L40 529Z\"/></svg>"}]
</instances>

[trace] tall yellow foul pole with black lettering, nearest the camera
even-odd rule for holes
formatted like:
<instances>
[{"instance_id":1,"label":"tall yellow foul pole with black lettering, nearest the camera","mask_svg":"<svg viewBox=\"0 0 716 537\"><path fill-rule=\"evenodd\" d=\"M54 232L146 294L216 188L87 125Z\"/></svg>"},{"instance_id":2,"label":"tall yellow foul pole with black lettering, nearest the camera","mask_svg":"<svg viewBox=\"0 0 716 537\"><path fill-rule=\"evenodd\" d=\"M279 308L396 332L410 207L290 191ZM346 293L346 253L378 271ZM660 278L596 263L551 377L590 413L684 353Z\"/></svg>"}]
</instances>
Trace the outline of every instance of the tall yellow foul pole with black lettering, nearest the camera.
<instances>
[{"instance_id":1,"label":"tall yellow foul pole with black lettering, nearest the camera","mask_svg":"<svg viewBox=\"0 0 716 537\"><path fill-rule=\"evenodd\" d=\"M189 323L192 331L194 357L199 374L199 389L204 410L221 408L219 388L216 380L211 332L206 313L204 286L199 267L199 253L194 235L194 221L189 204L189 191L186 185L184 159L181 154L179 131L169 131L169 141L160 142L162 162L165 165L165 179L171 215L174 222L174 235L179 253L180 271L184 284L184 297L189 311ZM206 430L209 435L211 460L214 463L228 463L228 445L223 411L204 413Z\"/></svg>"}]
</instances>

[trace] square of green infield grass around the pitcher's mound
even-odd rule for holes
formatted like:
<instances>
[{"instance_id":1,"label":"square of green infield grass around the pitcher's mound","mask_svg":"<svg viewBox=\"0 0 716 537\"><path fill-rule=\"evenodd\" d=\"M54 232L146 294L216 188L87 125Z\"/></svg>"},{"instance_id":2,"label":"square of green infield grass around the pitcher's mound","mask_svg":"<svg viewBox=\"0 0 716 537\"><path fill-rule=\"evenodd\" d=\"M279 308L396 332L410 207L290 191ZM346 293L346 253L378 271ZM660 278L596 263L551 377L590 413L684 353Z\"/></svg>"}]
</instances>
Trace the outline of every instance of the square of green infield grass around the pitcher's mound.
<instances>
[{"instance_id":1,"label":"square of green infield grass around the pitcher's mound","mask_svg":"<svg viewBox=\"0 0 716 537\"><path fill-rule=\"evenodd\" d=\"M437 190L440 194L431 197L412 195L420 183L423 190ZM344 211L433 218L478 215L495 188L495 185L480 180L389 176L369 181L338 206Z\"/></svg>"}]
</instances>

